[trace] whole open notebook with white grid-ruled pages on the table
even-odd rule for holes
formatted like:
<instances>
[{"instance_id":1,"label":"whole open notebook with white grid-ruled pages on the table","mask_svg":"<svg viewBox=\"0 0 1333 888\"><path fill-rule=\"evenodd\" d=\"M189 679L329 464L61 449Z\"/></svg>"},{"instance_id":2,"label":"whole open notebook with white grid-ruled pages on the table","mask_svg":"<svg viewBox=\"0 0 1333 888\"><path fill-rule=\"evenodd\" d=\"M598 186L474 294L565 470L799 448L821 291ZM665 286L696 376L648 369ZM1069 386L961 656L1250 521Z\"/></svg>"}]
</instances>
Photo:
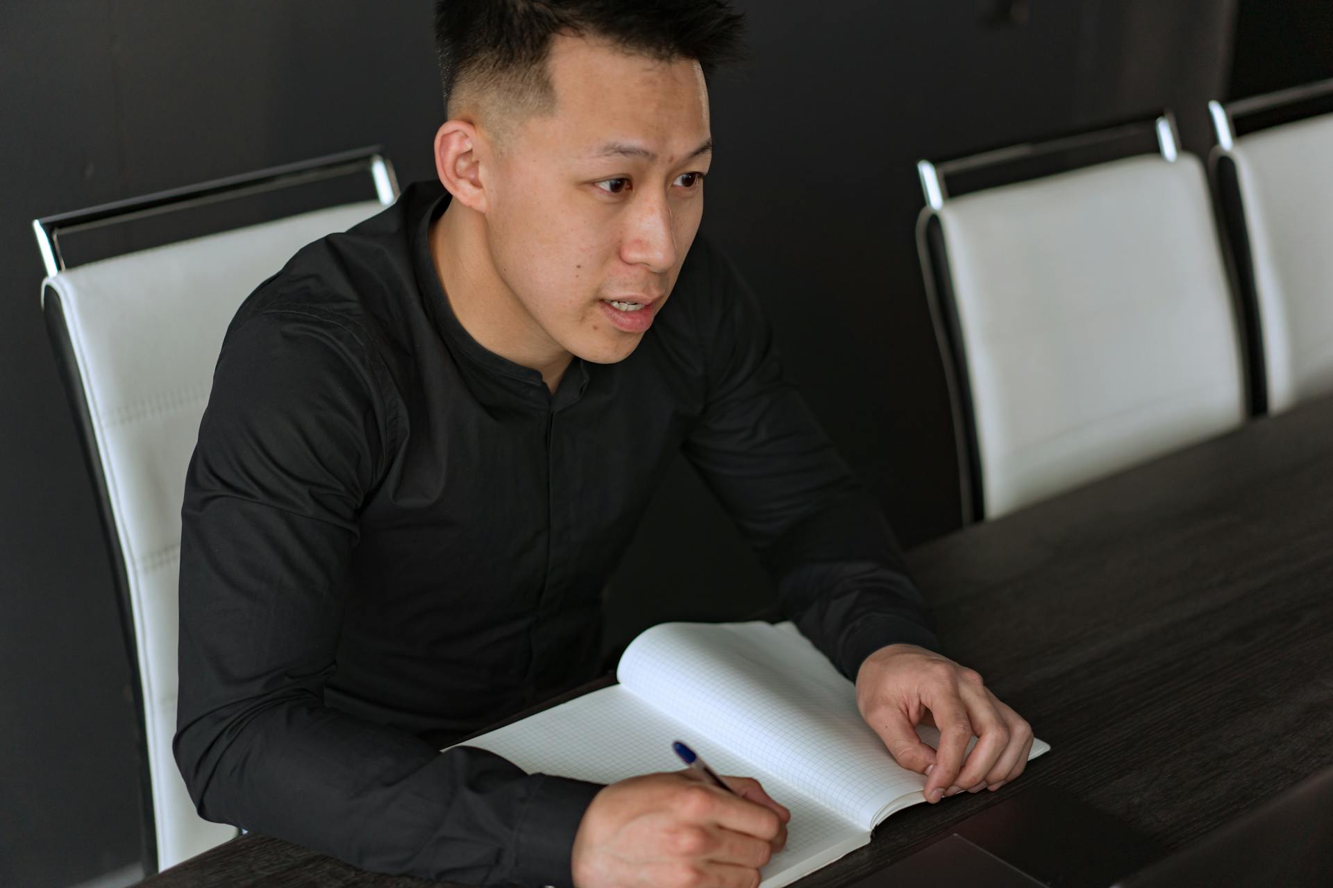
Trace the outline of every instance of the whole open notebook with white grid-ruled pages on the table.
<instances>
[{"instance_id":1,"label":"whole open notebook with white grid-ruled pages on the table","mask_svg":"<svg viewBox=\"0 0 1333 888\"><path fill-rule=\"evenodd\" d=\"M615 783L677 771L684 740L718 774L757 779L792 811L788 843L764 867L777 888L870 841L881 820L925 801L856 708L850 682L792 623L663 623L625 650L620 684L461 746L524 771ZM920 727L930 746L938 734ZM1050 747L1032 746L1032 758Z\"/></svg>"}]
</instances>

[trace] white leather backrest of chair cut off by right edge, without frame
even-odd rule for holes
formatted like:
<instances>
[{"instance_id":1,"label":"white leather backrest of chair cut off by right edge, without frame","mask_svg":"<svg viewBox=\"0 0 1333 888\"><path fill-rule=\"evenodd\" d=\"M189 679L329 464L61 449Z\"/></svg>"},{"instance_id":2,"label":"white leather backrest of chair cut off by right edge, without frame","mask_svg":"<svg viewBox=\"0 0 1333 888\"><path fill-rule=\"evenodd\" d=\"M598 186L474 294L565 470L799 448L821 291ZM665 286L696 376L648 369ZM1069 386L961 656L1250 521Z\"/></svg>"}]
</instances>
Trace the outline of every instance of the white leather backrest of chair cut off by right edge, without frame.
<instances>
[{"instance_id":1,"label":"white leather backrest of chair cut off by right edge, without frame","mask_svg":"<svg viewBox=\"0 0 1333 888\"><path fill-rule=\"evenodd\" d=\"M1268 409L1333 391L1333 114L1236 140Z\"/></svg>"}]
</instances>

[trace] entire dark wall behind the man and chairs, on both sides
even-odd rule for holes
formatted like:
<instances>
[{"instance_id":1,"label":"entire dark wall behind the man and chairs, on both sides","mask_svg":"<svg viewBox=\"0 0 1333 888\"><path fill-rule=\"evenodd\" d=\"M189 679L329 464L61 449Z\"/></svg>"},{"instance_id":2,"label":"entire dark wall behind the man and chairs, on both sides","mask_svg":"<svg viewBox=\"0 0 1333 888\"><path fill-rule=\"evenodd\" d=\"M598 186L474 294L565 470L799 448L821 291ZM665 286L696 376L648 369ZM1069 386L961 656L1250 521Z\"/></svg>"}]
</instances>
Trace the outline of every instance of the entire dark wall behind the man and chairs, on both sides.
<instances>
[{"instance_id":1,"label":"entire dark wall behind the man and chairs, on both sides","mask_svg":"<svg viewBox=\"0 0 1333 888\"><path fill-rule=\"evenodd\" d=\"M704 230L905 545L960 522L914 161L1162 107L1206 153L1208 99L1333 76L1329 0L736 5L753 57L712 85ZM431 3L9 1L0 83L0 884L112 884L139 848L129 674L31 220L373 142L403 182L432 177ZM766 599L680 465L612 583L609 640Z\"/></svg>"}]
</instances>

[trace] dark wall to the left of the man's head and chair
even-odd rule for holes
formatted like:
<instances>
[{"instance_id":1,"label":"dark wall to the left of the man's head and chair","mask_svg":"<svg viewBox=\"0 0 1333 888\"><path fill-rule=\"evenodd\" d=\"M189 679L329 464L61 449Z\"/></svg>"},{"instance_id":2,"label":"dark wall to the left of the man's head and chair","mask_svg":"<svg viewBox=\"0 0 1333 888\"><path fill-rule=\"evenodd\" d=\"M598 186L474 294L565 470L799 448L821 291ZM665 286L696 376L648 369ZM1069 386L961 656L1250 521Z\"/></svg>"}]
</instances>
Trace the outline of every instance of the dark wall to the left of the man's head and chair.
<instances>
[{"instance_id":1,"label":"dark wall to the left of the man's head and chair","mask_svg":"<svg viewBox=\"0 0 1333 888\"><path fill-rule=\"evenodd\" d=\"M428 177L436 83L428 0L0 3L0 885L139 855L129 674L31 221L373 142Z\"/></svg>"}]
</instances>

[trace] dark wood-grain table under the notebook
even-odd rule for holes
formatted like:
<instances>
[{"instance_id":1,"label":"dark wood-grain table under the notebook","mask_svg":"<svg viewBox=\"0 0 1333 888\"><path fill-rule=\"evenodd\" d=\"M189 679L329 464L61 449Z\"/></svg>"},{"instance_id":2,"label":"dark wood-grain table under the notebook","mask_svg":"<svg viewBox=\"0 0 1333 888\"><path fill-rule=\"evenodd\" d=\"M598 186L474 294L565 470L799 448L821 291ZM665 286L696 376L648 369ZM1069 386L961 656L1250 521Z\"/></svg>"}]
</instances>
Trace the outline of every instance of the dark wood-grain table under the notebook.
<instances>
[{"instance_id":1,"label":"dark wood-grain table under the notebook","mask_svg":"<svg viewBox=\"0 0 1333 888\"><path fill-rule=\"evenodd\" d=\"M1033 783L1178 848L1333 764L1333 399L909 553L948 652L1052 751L886 820L844 885ZM247 835L145 884L428 885Z\"/></svg>"}]
</instances>

